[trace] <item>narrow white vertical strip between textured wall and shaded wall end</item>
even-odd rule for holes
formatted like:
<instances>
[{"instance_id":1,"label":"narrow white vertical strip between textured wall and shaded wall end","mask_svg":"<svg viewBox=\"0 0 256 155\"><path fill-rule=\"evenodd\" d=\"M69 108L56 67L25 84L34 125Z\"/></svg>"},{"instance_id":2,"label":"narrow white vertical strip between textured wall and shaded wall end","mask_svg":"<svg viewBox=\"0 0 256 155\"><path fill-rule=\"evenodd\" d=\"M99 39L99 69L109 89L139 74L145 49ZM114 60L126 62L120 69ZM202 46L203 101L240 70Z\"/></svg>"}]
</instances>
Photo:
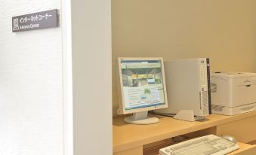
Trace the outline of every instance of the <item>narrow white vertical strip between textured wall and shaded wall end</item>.
<instances>
[{"instance_id":1,"label":"narrow white vertical strip between textured wall and shaded wall end","mask_svg":"<svg viewBox=\"0 0 256 155\"><path fill-rule=\"evenodd\" d=\"M73 155L72 105L72 23L71 2L61 1L61 29L63 46L63 141L64 154Z\"/></svg>"}]
</instances>

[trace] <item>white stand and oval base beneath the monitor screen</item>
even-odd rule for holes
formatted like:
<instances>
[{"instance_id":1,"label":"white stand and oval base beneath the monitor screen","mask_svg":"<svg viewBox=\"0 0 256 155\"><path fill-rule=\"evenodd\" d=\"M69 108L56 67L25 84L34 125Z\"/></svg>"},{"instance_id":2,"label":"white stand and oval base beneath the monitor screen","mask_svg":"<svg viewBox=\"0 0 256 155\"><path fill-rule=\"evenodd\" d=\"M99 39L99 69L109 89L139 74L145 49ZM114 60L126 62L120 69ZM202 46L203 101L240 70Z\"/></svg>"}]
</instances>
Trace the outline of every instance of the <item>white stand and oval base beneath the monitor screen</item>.
<instances>
[{"instance_id":1,"label":"white stand and oval base beneath the monitor screen","mask_svg":"<svg viewBox=\"0 0 256 155\"><path fill-rule=\"evenodd\" d=\"M125 122L131 124L153 124L159 122L156 117L147 117L147 113L148 111L133 113L131 117L125 117Z\"/></svg>"}]
</instances>

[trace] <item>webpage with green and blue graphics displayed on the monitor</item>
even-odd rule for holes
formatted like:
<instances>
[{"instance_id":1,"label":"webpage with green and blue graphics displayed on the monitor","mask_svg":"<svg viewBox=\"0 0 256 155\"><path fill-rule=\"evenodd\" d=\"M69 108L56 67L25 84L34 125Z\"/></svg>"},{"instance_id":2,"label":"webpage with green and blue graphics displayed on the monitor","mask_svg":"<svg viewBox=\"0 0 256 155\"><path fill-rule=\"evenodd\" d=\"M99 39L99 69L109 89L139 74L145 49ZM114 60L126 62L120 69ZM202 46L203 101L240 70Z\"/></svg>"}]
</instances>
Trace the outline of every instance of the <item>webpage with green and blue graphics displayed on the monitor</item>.
<instances>
[{"instance_id":1,"label":"webpage with green and blue graphics displayed on the monitor","mask_svg":"<svg viewBox=\"0 0 256 155\"><path fill-rule=\"evenodd\" d=\"M160 60L122 60L125 110L165 105Z\"/></svg>"}]
</instances>

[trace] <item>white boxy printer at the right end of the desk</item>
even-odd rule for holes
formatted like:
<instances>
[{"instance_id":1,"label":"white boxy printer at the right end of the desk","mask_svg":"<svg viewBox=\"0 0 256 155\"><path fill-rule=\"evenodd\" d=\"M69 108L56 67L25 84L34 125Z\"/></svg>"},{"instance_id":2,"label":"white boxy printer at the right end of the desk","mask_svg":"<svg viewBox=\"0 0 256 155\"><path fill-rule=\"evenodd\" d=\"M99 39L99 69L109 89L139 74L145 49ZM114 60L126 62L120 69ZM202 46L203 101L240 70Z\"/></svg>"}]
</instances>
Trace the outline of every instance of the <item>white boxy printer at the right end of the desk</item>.
<instances>
[{"instance_id":1,"label":"white boxy printer at the right end of the desk","mask_svg":"<svg viewBox=\"0 0 256 155\"><path fill-rule=\"evenodd\" d=\"M235 115L256 109L256 73L215 72L211 74L211 110Z\"/></svg>"}]
</instances>

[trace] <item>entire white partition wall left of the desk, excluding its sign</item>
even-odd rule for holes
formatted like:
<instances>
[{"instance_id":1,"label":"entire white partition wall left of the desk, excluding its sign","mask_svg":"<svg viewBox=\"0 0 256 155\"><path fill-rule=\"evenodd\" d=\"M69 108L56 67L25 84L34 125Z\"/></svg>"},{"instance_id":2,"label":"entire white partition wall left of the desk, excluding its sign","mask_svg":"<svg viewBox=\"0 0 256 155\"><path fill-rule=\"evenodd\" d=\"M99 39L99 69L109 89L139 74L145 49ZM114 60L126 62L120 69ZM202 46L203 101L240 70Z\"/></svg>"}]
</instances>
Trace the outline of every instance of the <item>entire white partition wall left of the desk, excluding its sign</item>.
<instances>
[{"instance_id":1,"label":"entire white partition wall left of the desk, excluding its sign","mask_svg":"<svg viewBox=\"0 0 256 155\"><path fill-rule=\"evenodd\" d=\"M0 0L0 154L112 154L110 5ZM11 32L51 9L57 28Z\"/></svg>"}]
</instances>

